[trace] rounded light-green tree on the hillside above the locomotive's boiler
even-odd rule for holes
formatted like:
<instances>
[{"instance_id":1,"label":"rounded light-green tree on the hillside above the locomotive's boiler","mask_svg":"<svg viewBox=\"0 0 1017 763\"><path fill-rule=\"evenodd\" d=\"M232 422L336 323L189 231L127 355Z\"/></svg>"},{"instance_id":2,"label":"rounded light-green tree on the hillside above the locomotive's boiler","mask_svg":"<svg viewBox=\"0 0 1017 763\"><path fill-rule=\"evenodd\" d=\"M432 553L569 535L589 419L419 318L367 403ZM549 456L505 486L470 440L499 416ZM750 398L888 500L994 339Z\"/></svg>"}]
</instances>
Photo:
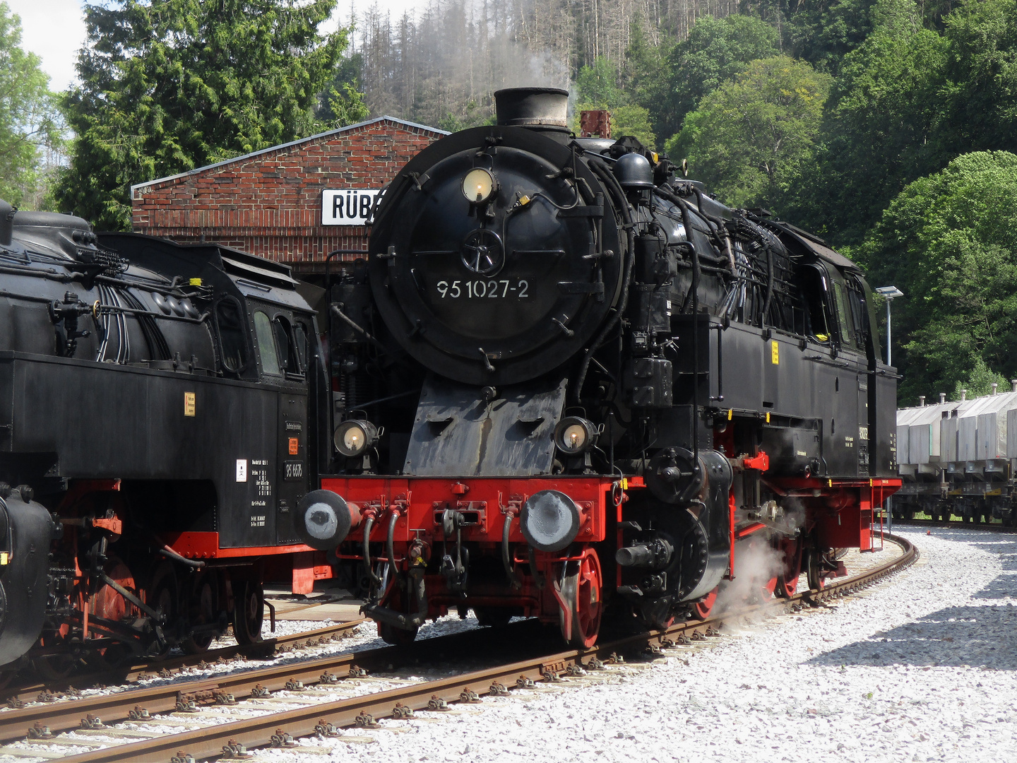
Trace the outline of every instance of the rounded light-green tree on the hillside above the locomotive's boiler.
<instances>
[{"instance_id":1,"label":"rounded light-green tree on the hillside above the locomotive's boiler","mask_svg":"<svg viewBox=\"0 0 1017 763\"><path fill-rule=\"evenodd\" d=\"M729 204L779 204L812 161L830 82L805 61L754 61L700 102L666 150Z\"/></svg>"}]
</instances>

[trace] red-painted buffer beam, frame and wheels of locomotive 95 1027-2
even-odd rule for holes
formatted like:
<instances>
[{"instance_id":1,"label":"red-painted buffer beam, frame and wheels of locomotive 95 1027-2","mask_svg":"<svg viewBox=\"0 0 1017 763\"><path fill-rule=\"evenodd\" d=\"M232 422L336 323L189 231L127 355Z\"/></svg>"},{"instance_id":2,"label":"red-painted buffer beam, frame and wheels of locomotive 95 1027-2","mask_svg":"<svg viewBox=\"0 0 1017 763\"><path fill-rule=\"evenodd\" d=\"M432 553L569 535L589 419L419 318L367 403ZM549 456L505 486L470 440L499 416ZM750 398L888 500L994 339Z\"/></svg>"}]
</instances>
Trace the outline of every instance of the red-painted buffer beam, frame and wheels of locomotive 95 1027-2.
<instances>
[{"instance_id":1,"label":"red-painted buffer beam, frame and wheels of locomotive 95 1027-2","mask_svg":"<svg viewBox=\"0 0 1017 763\"><path fill-rule=\"evenodd\" d=\"M749 459L747 468L765 468L766 454ZM764 471L765 479L765 471ZM794 496L805 506L807 529L824 545L873 549L873 509L900 487L899 479L819 479L778 478L766 480L767 486L779 495ZM324 477L321 487L342 495L359 509L363 519L371 519L371 543L391 545L392 561L400 574L414 564L414 554L422 567L442 542L447 542L442 529L442 515L454 509L467 515L467 524L459 530L463 542L477 544L485 555L498 555L507 544L508 569L506 583L471 589L464 597L448 590L440 574L425 574L427 590L426 619L446 614L452 608L512 607L525 617L536 617L546 623L558 623L565 640L578 646L592 646L603 610L605 579L597 545L616 540L622 545L621 522L630 495L646 489L642 477L612 479L607 476L569 477ZM561 552L534 551L528 546L519 523L519 511L532 494L547 489L560 490L580 507L582 524L575 542ZM730 497L731 566L726 579L731 579L735 546L740 541L766 530L766 524L736 523L733 491ZM394 519L395 518L395 519ZM508 522L507 535L504 534ZM393 524L394 522L394 524ZM360 548L366 523L351 532L348 541ZM390 535L390 526L392 528ZM614 534L616 538L610 536ZM785 559L786 580L775 578L768 590L790 595L800 574L801 539L778 541ZM601 546L603 549L603 546ZM341 553L342 559L364 562L364 554ZM385 562L382 553L370 562ZM573 568L573 569L570 569ZM512 578L518 585L507 583ZM819 584L827 577L843 574L839 568L822 570ZM573 586L562 585L565 578L576 579ZM621 582L617 568L616 585ZM542 584L543 583L543 584ZM485 590L486 588L486 590ZM379 604L404 610L395 576L387 580ZM694 608L701 617L709 613L712 598L707 597ZM465 614L465 612L464 612ZM379 623L379 629L381 624Z\"/></svg>"}]
</instances>

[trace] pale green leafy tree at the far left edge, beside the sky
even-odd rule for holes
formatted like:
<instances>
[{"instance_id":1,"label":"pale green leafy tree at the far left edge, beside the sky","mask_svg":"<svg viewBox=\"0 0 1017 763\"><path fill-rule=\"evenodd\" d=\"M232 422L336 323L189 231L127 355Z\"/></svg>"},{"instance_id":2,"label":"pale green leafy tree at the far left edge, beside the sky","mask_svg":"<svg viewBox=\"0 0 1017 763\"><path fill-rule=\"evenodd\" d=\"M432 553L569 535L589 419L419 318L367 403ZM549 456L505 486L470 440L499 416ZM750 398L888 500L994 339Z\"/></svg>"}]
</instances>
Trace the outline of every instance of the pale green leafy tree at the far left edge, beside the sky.
<instances>
[{"instance_id":1,"label":"pale green leafy tree at the far left edge, beside the sky","mask_svg":"<svg viewBox=\"0 0 1017 763\"><path fill-rule=\"evenodd\" d=\"M0 198L35 207L44 152L58 150L60 119L49 76L21 49L21 22L0 2Z\"/></svg>"}]
</instances>

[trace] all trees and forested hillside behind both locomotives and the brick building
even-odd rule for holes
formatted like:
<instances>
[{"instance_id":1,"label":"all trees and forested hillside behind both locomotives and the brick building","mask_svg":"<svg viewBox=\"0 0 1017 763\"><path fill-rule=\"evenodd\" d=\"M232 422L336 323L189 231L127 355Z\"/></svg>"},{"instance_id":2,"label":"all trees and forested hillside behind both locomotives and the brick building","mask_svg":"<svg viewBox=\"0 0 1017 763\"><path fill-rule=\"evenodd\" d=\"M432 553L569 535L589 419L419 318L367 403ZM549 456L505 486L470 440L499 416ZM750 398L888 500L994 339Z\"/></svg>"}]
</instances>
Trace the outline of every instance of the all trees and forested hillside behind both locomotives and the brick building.
<instances>
[{"instance_id":1,"label":"all trees and forested hillside behind both locomotives and the brick building","mask_svg":"<svg viewBox=\"0 0 1017 763\"><path fill-rule=\"evenodd\" d=\"M483 124L499 87L567 87L575 114L609 109L615 135L902 289L901 401L1017 376L1017 0L337 5L87 4L80 84L50 94L0 0L4 193L124 228L131 183L368 115Z\"/></svg>"}]
</instances>

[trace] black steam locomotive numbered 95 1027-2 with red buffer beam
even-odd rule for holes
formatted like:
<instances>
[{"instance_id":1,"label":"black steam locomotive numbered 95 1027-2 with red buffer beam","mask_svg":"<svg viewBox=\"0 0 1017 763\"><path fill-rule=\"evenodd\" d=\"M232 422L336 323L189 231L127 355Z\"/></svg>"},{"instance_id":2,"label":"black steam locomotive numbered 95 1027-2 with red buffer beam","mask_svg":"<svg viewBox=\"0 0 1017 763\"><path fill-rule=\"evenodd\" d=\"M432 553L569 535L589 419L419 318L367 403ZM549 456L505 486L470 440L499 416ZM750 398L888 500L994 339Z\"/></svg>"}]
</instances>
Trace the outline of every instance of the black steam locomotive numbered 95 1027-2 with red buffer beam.
<instances>
[{"instance_id":1,"label":"black steam locomotive numbered 95 1027-2 with red buffer beam","mask_svg":"<svg viewBox=\"0 0 1017 763\"><path fill-rule=\"evenodd\" d=\"M343 467L301 505L394 643L455 607L660 626L822 586L900 484L896 375L858 269L731 210L566 94L496 94L386 190L330 285Z\"/></svg>"}]
</instances>

